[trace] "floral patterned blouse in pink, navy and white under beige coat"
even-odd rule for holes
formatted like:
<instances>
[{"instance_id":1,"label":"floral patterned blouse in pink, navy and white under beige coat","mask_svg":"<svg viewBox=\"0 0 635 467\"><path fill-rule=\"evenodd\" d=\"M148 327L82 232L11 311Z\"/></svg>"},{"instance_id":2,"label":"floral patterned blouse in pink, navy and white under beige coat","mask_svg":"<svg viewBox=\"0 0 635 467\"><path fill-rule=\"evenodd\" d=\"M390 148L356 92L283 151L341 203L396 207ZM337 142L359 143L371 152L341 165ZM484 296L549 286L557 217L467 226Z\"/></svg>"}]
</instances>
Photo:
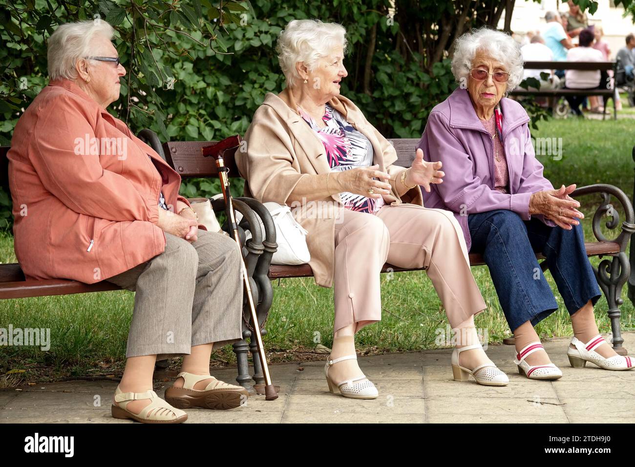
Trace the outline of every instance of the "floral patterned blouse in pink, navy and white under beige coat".
<instances>
[{"instance_id":1,"label":"floral patterned blouse in pink, navy and white under beige coat","mask_svg":"<svg viewBox=\"0 0 635 467\"><path fill-rule=\"evenodd\" d=\"M373 165L373 146L368 138L358 132L333 107L328 104L324 106L324 116L322 117L322 121L326 123L324 128L320 128L316 121L299 105L298 112L324 144L331 172L344 172L356 167ZM383 198L375 200L349 192L340 193L340 198L347 209L358 212L375 214L384 205Z\"/></svg>"}]
</instances>

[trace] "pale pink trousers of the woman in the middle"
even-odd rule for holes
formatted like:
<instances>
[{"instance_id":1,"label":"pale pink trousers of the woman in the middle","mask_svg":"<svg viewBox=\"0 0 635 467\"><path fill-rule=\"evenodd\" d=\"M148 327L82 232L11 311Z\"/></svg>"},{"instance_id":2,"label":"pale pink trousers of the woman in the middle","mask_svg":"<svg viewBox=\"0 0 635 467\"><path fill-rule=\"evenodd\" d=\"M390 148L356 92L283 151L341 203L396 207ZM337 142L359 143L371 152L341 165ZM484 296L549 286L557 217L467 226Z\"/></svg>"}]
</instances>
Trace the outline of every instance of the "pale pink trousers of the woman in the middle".
<instances>
[{"instance_id":1,"label":"pale pink trousers of the woman in the middle","mask_svg":"<svg viewBox=\"0 0 635 467\"><path fill-rule=\"evenodd\" d=\"M381 320L384 262L425 267L453 328L486 308L451 212L410 204L385 205L377 215L342 209L335 223L335 332Z\"/></svg>"}]
</instances>

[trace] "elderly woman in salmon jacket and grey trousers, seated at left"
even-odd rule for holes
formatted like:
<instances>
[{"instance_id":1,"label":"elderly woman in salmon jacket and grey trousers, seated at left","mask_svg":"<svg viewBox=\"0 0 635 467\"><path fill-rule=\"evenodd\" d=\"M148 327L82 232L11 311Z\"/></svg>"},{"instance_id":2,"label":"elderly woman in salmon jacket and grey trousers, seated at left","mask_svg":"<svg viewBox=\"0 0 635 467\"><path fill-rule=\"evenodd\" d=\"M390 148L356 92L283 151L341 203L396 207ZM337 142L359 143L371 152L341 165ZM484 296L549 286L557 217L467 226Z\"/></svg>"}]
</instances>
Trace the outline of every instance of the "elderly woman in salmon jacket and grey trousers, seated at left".
<instances>
[{"instance_id":1,"label":"elderly woman in salmon jacket and grey trousers, seated at left","mask_svg":"<svg viewBox=\"0 0 635 467\"><path fill-rule=\"evenodd\" d=\"M112 415L179 423L180 409L237 407L247 396L209 371L212 349L241 339L240 254L198 224L178 173L106 111L126 74L113 32L103 20L64 24L48 41L51 81L8 153L15 254L27 279L136 290ZM154 363L179 355L182 372L163 400Z\"/></svg>"}]
</instances>

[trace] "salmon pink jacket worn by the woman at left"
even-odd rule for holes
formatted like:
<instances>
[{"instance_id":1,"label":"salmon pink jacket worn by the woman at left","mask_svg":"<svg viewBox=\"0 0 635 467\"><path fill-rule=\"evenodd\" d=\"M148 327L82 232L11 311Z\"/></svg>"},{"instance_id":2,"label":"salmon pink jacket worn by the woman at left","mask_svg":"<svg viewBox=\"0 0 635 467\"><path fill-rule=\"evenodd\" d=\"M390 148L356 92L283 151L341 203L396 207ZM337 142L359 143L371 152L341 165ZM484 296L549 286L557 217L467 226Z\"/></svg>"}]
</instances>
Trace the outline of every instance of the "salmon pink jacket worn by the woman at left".
<instances>
[{"instance_id":1,"label":"salmon pink jacket worn by the woman at left","mask_svg":"<svg viewBox=\"0 0 635 467\"><path fill-rule=\"evenodd\" d=\"M8 159L14 249L27 279L95 283L123 273L165 250L159 191L168 208L189 206L180 175L69 79L51 81L29 105Z\"/></svg>"}]
</instances>

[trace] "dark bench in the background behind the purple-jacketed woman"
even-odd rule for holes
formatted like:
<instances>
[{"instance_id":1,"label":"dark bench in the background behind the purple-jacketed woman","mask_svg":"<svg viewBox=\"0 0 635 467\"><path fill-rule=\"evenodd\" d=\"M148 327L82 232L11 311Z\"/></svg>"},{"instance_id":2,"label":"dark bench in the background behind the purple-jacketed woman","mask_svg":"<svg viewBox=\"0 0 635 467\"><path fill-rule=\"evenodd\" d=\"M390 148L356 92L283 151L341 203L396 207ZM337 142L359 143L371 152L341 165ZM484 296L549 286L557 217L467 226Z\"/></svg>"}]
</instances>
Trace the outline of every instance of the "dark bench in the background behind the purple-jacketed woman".
<instances>
[{"instance_id":1,"label":"dark bench in the background behind the purple-jacketed woman","mask_svg":"<svg viewBox=\"0 0 635 467\"><path fill-rule=\"evenodd\" d=\"M606 82L606 86L599 89L550 89L550 90L526 90L516 88L510 91L510 96L533 96L533 97L566 97L572 95L584 96L605 96L605 104L608 98L613 98L613 118L617 119L617 105L615 104L615 90L609 81L606 81L608 70L613 70L613 74L617 72L617 64L615 62L525 62L525 69L529 70L580 70L580 71L596 71L601 72L600 85ZM606 105L602 119L606 118Z\"/></svg>"}]
</instances>

